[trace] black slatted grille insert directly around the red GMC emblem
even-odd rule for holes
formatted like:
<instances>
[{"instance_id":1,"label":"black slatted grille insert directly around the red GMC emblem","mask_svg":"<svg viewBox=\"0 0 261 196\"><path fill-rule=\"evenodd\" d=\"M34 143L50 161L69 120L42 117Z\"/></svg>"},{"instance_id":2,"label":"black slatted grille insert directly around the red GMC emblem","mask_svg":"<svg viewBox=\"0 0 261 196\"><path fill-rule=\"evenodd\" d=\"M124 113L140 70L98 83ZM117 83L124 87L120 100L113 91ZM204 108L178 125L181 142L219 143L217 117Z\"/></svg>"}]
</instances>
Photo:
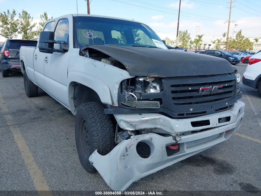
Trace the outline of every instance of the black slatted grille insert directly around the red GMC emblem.
<instances>
[{"instance_id":1,"label":"black slatted grille insert directly around the red GMC emblem","mask_svg":"<svg viewBox=\"0 0 261 196\"><path fill-rule=\"evenodd\" d=\"M201 87L222 85L222 92L217 94L200 95ZM210 102L224 101L234 96L234 80L201 82L192 84L170 85L171 97L175 105L200 105Z\"/></svg>"}]
</instances>

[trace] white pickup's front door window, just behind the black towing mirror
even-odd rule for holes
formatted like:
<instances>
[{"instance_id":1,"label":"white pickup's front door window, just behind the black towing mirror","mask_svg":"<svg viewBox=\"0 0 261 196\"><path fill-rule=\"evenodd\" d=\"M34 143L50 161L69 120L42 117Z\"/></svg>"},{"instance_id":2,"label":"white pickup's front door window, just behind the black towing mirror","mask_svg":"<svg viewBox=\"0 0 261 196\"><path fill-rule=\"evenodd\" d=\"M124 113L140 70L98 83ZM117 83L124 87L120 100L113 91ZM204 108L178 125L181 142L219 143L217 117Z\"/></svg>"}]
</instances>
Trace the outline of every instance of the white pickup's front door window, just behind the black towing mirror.
<instances>
[{"instance_id":1,"label":"white pickup's front door window, just behind the black towing mirror","mask_svg":"<svg viewBox=\"0 0 261 196\"><path fill-rule=\"evenodd\" d=\"M68 19L61 19L58 21L55 31L54 31L54 40L56 41L65 41L69 36L69 21ZM60 49L60 44L54 44L55 49Z\"/></svg>"}]
</instances>

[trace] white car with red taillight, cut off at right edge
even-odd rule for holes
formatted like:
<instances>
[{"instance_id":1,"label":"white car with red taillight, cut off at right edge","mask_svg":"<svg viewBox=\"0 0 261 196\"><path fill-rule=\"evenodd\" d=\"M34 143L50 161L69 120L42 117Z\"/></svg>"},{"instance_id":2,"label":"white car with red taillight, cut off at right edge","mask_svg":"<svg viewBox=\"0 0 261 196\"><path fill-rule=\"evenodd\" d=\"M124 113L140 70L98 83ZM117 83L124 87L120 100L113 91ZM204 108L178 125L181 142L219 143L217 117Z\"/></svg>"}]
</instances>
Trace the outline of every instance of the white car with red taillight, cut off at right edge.
<instances>
[{"instance_id":1,"label":"white car with red taillight, cut off at right edge","mask_svg":"<svg viewBox=\"0 0 261 196\"><path fill-rule=\"evenodd\" d=\"M242 81L245 85L257 89L261 96L261 50L249 58Z\"/></svg>"}]
</instances>

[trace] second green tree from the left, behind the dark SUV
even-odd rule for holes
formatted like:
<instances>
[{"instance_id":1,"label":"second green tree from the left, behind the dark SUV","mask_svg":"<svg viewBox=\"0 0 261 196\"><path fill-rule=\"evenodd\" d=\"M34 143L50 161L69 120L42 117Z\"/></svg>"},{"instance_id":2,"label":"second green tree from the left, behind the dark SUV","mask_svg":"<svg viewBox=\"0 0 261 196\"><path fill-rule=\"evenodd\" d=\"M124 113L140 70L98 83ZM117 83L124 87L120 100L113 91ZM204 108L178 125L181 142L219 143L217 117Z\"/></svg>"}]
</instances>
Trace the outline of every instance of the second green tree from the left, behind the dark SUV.
<instances>
[{"instance_id":1,"label":"second green tree from the left, behind the dark SUV","mask_svg":"<svg viewBox=\"0 0 261 196\"><path fill-rule=\"evenodd\" d=\"M19 13L18 27L23 39L36 39L37 32L33 30L36 23L32 23L32 21L33 17L27 11L23 10L22 14Z\"/></svg>"}]
</instances>

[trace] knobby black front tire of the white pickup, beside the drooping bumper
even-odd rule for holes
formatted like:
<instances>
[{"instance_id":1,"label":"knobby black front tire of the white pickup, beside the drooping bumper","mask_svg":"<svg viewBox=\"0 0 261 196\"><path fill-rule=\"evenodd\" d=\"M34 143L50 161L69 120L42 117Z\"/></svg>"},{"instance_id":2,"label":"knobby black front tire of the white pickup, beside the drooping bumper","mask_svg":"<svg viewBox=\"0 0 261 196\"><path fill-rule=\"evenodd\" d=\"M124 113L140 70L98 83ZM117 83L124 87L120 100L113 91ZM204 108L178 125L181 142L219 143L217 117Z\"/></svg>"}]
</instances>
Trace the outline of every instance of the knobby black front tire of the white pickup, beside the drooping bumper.
<instances>
[{"instance_id":1,"label":"knobby black front tire of the white pickup, beside the drooping bumper","mask_svg":"<svg viewBox=\"0 0 261 196\"><path fill-rule=\"evenodd\" d=\"M99 102L86 102L78 107L75 119L75 142L82 167L89 173L97 172L89 161L97 149L107 155L115 147L115 132L110 115L104 114Z\"/></svg>"}]
</instances>

